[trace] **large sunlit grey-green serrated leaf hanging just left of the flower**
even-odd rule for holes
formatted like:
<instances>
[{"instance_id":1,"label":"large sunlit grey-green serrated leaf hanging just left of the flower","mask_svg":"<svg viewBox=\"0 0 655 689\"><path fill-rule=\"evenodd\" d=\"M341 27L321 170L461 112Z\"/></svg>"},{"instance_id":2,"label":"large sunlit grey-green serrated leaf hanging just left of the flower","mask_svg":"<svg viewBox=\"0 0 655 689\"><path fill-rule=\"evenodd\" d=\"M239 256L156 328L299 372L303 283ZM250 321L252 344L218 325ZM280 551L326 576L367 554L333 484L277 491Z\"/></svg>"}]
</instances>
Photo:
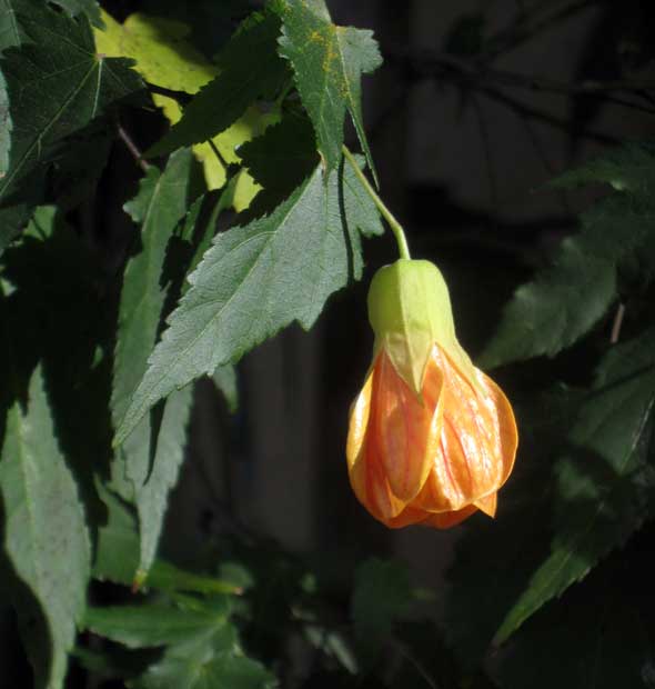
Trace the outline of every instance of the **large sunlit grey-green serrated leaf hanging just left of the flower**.
<instances>
[{"instance_id":1,"label":"large sunlit grey-green serrated leaf hanging just left of the flower","mask_svg":"<svg viewBox=\"0 0 655 689\"><path fill-rule=\"evenodd\" d=\"M357 228L381 227L354 173L344 171L343 198L339 178L316 168L269 217L215 238L168 319L115 443L174 389L234 363L294 320L309 330L351 270L360 278Z\"/></svg>"}]
</instances>

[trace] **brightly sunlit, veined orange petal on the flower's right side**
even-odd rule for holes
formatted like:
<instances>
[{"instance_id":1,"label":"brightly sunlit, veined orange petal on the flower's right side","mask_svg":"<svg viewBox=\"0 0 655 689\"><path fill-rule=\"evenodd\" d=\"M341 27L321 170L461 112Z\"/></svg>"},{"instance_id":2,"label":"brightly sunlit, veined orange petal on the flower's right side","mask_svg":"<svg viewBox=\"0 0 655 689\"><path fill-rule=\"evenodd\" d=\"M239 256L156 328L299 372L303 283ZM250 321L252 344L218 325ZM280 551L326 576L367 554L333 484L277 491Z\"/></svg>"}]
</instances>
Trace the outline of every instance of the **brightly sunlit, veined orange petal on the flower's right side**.
<instances>
[{"instance_id":1,"label":"brightly sunlit, veined orange petal on the flower's right side","mask_svg":"<svg viewBox=\"0 0 655 689\"><path fill-rule=\"evenodd\" d=\"M516 453L516 425L510 402L484 373L476 369L473 385L436 346L432 366L443 373L443 422L432 471L413 506L457 511L505 482Z\"/></svg>"}]
</instances>

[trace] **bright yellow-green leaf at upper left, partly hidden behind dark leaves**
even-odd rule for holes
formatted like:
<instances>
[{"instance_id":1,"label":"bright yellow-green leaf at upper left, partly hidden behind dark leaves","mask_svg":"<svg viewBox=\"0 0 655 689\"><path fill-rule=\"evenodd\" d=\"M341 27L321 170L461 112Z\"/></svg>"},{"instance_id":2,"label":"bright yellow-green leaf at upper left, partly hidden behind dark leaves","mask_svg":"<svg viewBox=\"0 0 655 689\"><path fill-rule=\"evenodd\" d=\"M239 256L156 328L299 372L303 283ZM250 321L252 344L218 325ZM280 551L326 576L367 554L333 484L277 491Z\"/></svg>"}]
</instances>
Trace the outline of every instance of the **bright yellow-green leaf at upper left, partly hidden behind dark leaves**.
<instances>
[{"instance_id":1,"label":"bright yellow-green leaf at upper left, partly hidden behind dark leaves","mask_svg":"<svg viewBox=\"0 0 655 689\"><path fill-rule=\"evenodd\" d=\"M97 30L98 51L109 57L125 57L135 61L134 69L149 83L189 94L198 91L219 74L219 67L205 60L189 42L190 28L181 22L150 17L143 13L130 14L123 24L102 11L103 30ZM182 108L172 98L154 94L154 104L162 109L171 124L182 117ZM228 163L238 162L234 152L244 141L258 136L276 121L278 113L261 112L250 107L224 132L213 137L212 142ZM226 181L225 168L209 143L193 147L193 153L204 168L210 190L220 189ZM244 180L244 184L245 180ZM238 211L248 207L253 190L245 189L234 199Z\"/></svg>"}]
</instances>

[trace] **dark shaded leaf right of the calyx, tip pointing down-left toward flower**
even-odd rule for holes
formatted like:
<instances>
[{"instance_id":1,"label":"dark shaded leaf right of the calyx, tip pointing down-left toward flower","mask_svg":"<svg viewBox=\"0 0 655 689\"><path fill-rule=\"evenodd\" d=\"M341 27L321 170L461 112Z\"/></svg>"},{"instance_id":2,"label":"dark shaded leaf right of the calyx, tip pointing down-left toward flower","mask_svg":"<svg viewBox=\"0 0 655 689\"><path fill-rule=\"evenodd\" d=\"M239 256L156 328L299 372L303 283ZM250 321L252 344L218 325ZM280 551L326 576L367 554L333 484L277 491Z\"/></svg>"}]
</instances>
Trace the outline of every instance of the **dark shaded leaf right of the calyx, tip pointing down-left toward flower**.
<instances>
[{"instance_id":1,"label":"dark shaded leaf right of the calyx, tip pointing down-left toward flower","mask_svg":"<svg viewBox=\"0 0 655 689\"><path fill-rule=\"evenodd\" d=\"M655 209L626 193L584 213L554 263L516 290L480 366L553 357L585 336L616 299L617 271L648 240L654 218Z\"/></svg>"}]
</instances>

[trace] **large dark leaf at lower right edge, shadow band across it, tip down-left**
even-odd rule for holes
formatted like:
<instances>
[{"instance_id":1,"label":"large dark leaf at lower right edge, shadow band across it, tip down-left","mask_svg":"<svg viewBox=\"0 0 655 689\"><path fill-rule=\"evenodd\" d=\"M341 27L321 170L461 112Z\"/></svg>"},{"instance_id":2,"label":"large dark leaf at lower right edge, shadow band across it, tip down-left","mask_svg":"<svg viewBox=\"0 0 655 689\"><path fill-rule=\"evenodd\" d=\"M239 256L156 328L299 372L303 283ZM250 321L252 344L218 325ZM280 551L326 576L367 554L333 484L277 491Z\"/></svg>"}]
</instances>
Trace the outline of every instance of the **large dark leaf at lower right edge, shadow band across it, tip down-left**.
<instances>
[{"instance_id":1,"label":"large dark leaf at lower right edge, shadow band across it, tip down-left","mask_svg":"<svg viewBox=\"0 0 655 689\"><path fill-rule=\"evenodd\" d=\"M558 460L551 553L507 612L507 639L548 600L583 579L648 516L655 497L652 455L655 330L614 347L601 363Z\"/></svg>"}]
</instances>

